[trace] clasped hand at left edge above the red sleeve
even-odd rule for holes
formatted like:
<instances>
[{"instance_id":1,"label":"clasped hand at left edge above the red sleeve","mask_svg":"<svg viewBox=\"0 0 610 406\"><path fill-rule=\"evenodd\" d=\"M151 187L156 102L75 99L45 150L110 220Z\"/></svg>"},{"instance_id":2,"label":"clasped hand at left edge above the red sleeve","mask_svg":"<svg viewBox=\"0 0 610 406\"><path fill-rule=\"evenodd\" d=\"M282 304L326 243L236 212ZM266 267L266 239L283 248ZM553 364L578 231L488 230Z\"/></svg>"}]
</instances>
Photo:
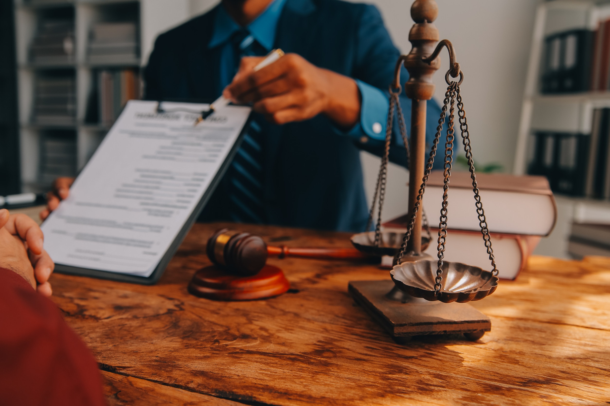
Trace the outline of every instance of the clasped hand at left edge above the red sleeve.
<instances>
[{"instance_id":1,"label":"clasped hand at left edge above the red sleeve","mask_svg":"<svg viewBox=\"0 0 610 406\"><path fill-rule=\"evenodd\" d=\"M0 210L0 267L15 271L39 293L51 296L48 279L55 264L43 249L43 240L40 227L27 215Z\"/></svg>"}]
</instances>

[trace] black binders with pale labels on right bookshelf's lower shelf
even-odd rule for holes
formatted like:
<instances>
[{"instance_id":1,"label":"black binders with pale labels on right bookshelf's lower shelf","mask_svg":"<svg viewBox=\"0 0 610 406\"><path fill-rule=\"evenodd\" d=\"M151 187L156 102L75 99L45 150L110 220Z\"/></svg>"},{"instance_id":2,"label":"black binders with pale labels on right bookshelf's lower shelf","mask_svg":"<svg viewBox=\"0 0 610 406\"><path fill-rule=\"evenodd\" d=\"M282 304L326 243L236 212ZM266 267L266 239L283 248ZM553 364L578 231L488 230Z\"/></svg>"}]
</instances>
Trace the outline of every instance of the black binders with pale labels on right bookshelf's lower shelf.
<instances>
[{"instance_id":1,"label":"black binders with pale labels on right bookshelf's lower shelf","mask_svg":"<svg viewBox=\"0 0 610 406\"><path fill-rule=\"evenodd\" d=\"M554 192L583 196L590 166L591 136L539 131L534 138L534 156L528 173L547 177Z\"/></svg>"}]
</instances>

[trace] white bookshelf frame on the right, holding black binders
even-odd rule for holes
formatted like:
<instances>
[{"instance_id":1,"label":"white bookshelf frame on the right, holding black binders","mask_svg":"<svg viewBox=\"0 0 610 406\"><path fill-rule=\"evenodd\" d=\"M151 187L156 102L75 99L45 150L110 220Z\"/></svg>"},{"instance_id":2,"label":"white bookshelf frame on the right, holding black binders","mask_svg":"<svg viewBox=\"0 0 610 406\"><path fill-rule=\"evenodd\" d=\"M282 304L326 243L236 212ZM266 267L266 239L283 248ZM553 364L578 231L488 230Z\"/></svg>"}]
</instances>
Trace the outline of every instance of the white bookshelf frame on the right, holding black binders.
<instances>
[{"instance_id":1,"label":"white bookshelf frame on the right, holding black binders","mask_svg":"<svg viewBox=\"0 0 610 406\"><path fill-rule=\"evenodd\" d=\"M572 29L597 29L610 18L610 1L550 0L541 2L534 19L525 91L513 165L515 175L527 173L533 159L536 131L590 134L594 110L610 108L610 90L542 94L545 38ZM569 258L568 240L573 222L610 224L610 201L556 195L558 222L534 253Z\"/></svg>"}]
</instances>

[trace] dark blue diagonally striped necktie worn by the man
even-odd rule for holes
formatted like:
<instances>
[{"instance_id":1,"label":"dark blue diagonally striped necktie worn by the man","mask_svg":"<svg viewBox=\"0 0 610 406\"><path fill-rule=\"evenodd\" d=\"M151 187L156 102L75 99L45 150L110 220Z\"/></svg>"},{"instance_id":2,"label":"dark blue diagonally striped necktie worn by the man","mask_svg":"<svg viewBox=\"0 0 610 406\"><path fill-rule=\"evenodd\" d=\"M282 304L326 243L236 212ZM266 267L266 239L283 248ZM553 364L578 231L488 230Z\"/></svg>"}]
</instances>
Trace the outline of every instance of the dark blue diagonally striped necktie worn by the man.
<instances>
[{"instance_id":1,"label":"dark blue diagonally striped necktie worn by the man","mask_svg":"<svg viewBox=\"0 0 610 406\"><path fill-rule=\"evenodd\" d=\"M242 57L262 56L267 51L243 29L231 38L234 50L234 73ZM235 154L229 170L228 214L239 223L264 223L264 136L260 125L251 121L242 145Z\"/></svg>"}]
</instances>

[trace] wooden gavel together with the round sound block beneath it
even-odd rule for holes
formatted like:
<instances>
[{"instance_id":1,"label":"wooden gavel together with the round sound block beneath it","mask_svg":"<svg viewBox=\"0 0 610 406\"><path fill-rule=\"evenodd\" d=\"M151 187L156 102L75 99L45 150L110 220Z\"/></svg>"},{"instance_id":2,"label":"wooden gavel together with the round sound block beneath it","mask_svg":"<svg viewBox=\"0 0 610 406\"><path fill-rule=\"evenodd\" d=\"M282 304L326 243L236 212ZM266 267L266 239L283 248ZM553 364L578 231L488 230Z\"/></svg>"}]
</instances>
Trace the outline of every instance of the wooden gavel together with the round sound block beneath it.
<instances>
[{"instance_id":1,"label":"wooden gavel together with the round sound block beneath it","mask_svg":"<svg viewBox=\"0 0 610 406\"><path fill-rule=\"evenodd\" d=\"M188 292L215 300L253 300L278 296L290 289L282 270L267 265L270 255L318 259L368 259L354 248L268 247L262 238L227 228L212 234L206 254L214 265L198 270Z\"/></svg>"}]
</instances>

